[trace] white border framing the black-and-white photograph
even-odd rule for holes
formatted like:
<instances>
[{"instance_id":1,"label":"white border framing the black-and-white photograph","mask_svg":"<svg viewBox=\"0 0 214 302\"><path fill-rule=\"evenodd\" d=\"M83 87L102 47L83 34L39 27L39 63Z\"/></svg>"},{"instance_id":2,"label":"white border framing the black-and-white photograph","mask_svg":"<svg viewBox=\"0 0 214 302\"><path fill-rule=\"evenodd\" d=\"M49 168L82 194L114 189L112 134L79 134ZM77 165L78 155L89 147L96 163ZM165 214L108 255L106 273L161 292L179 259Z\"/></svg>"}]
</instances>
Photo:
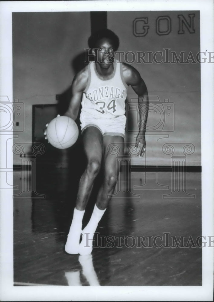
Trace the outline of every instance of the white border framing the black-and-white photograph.
<instances>
[{"instance_id":1,"label":"white border framing the black-and-white photograph","mask_svg":"<svg viewBox=\"0 0 214 302\"><path fill-rule=\"evenodd\" d=\"M1 2L1 95L12 102L12 12L27 11L200 11L201 51L213 51L213 3L206 1L28 1ZM213 64L201 64L202 235L213 236ZM2 140L2 136L1 136ZM1 144L1 163L13 154ZM1 170L1 183L4 172ZM8 183L13 175L8 173ZM212 301L213 248L202 249L202 286L13 286L13 190L1 190L1 300L4 301Z\"/></svg>"}]
</instances>

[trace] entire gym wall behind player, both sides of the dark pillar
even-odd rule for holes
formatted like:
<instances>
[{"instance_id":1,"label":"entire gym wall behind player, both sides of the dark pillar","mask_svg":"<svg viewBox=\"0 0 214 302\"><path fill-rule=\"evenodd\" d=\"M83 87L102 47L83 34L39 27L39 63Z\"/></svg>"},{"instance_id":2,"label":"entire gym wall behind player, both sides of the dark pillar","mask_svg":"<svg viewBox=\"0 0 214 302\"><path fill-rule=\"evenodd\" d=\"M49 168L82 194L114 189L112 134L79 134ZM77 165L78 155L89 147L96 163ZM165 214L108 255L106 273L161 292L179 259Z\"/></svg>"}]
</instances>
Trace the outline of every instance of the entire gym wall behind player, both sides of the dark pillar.
<instances>
[{"instance_id":1,"label":"entire gym wall behind player, both sides of the dark pillar","mask_svg":"<svg viewBox=\"0 0 214 302\"><path fill-rule=\"evenodd\" d=\"M194 32L190 33L183 24L184 33L179 34L178 15L190 22L189 14L194 14ZM162 16L167 18L161 19ZM74 61L87 47L91 34L90 12L13 13L12 21L13 98L24 103L24 131L19 132L14 143L31 143L32 105L57 104L56 95L70 86L78 67ZM184 52L184 61L190 51L194 58L200 51L198 11L108 11L107 27L120 38L118 51L145 52L146 61L147 52L153 56L156 51L164 53L164 48L170 49L169 61L171 51L177 56ZM123 56L121 59L125 61ZM137 63L137 59L132 62L131 54L127 59L140 72L150 98L147 151L143 159L133 156L132 164L171 165L172 154L165 154L162 148L172 145L174 156L179 157L183 146L190 144L195 150L185 156L186 165L200 165L200 64L191 60L155 63L153 58L152 63ZM156 59L161 60L161 56L157 54ZM125 136L128 143L135 143L138 132L136 97L129 88ZM15 155L14 164L20 163L21 158Z\"/></svg>"}]
</instances>

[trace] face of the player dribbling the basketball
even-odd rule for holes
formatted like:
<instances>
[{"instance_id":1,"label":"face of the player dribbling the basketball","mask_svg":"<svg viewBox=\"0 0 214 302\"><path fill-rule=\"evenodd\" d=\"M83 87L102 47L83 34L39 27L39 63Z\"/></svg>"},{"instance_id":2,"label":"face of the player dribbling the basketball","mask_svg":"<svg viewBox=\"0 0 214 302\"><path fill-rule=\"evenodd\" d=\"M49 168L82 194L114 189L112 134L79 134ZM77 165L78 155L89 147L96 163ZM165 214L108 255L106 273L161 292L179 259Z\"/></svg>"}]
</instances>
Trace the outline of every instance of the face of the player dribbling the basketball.
<instances>
[{"instance_id":1,"label":"face of the player dribbling the basketball","mask_svg":"<svg viewBox=\"0 0 214 302\"><path fill-rule=\"evenodd\" d=\"M100 39L92 53L95 55L95 62L99 63L104 69L108 69L114 62L113 43L110 39Z\"/></svg>"}]
</instances>

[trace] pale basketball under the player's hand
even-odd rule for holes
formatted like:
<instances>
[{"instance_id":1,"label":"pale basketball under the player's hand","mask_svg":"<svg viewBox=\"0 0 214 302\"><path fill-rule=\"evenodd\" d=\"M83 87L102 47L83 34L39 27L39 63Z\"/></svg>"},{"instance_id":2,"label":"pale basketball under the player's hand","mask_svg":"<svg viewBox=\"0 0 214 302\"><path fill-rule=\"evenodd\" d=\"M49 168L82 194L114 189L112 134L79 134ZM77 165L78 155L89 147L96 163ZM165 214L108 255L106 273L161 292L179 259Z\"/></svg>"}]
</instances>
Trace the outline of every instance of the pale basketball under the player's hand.
<instances>
[{"instance_id":1,"label":"pale basketball under the player's hand","mask_svg":"<svg viewBox=\"0 0 214 302\"><path fill-rule=\"evenodd\" d=\"M67 116L57 116L47 126L47 140L58 148L66 149L71 147L79 135L77 124Z\"/></svg>"}]
</instances>

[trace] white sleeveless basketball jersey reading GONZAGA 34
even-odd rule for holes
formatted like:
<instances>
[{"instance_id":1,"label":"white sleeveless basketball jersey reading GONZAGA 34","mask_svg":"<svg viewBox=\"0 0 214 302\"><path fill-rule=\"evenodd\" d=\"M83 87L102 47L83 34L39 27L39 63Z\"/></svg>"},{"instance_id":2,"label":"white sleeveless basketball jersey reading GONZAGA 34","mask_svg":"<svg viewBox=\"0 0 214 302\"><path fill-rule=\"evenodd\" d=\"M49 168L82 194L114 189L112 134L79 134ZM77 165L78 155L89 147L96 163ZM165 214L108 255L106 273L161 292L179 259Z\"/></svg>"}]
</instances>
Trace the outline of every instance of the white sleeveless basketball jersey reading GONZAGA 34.
<instances>
[{"instance_id":1,"label":"white sleeveless basketball jersey reading GONZAGA 34","mask_svg":"<svg viewBox=\"0 0 214 302\"><path fill-rule=\"evenodd\" d=\"M114 61L114 71L108 80L100 78L96 63L89 63L89 80L83 92L82 112L105 118L125 114L125 99L128 86L122 74L122 63Z\"/></svg>"}]
</instances>

